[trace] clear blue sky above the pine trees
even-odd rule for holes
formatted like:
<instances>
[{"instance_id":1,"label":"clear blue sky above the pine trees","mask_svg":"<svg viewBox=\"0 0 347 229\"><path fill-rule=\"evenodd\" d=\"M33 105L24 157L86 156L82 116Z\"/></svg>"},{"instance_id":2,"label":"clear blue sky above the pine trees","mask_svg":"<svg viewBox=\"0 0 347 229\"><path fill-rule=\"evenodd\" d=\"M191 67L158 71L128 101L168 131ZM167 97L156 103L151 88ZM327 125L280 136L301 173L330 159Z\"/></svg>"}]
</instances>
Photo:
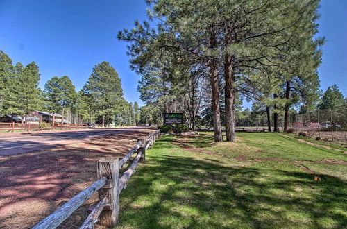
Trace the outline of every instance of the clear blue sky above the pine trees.
<instances>
[{"instance_id":1,"label":"clear blue sky above the pine trees","mask_svg":"<svg viewBox=\"0 0 347 229\"><path fill-rule=\"evenodd\" d=\"M339 85L347 96L347 1L323 0L319 36L326 38L319 67L321 88ZM0 0L0 50L13 62L35 61L40 87L52 76L69 76L79 90L103 60L115 67L127 101L139 101L137 76L129 69L126 43L117 31L146 19L144 0ZM245 104L248 107L249 104Z\"/></svg>"}]
</instances>

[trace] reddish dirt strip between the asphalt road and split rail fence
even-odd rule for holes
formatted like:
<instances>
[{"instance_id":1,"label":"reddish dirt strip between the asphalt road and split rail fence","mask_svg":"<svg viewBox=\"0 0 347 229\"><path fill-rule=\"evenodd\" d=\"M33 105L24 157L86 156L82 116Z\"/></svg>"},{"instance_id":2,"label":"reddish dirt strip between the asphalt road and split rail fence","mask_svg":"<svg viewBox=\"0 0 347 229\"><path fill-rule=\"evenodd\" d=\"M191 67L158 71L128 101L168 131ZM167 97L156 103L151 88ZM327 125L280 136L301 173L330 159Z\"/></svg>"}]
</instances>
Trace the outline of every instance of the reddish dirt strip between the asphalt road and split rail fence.
<instances>
[{"instance_id":1,"label":"reddish dirt strip between the asphalt road and split rail fence","mask_svg":"<svg viewBox=\"0 0 347 229\"><path fill-rule=\"evenodd\" d=\"M0 228L31 228L93 183L99 158L122 158L149 129L96 137L57 149L0 160ZM94 194L60 228L76 228L87 217Z\"/></svg>"}]
</instances>

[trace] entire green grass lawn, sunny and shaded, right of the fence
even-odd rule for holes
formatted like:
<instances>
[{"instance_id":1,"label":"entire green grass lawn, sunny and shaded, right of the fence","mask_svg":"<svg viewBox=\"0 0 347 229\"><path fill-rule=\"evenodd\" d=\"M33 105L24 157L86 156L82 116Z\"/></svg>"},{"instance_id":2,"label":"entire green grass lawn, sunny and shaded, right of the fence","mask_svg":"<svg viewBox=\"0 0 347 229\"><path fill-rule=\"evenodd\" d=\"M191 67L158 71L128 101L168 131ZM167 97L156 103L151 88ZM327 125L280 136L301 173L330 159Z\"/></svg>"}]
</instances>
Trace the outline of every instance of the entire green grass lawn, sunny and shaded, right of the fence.
<instances>
[{"instance_id":1,"label":"entire green grass lawn, sunny and shaded, right of the fence","mask_svg":"<svg viewBox=\"0 0 347 229\"><path fill-rule=\"evenodd\" d=\"M237 137L160 137L121 192L118 227L347 225L346 154L276 133Z\"/></svg>"}]
</instances>

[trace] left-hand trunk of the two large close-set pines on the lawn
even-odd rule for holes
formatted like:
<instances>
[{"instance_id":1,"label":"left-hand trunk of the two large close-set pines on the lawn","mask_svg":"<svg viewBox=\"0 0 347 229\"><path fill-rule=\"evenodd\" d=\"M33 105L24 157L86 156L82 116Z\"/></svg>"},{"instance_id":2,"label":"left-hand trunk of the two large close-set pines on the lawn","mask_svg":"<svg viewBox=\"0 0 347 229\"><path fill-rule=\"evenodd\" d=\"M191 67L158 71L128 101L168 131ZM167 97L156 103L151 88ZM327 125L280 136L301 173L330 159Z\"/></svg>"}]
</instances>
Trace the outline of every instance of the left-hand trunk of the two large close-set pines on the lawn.
<instances>
[{"instance_id":1,"label":"left-hand trunk of the two large close-set pines on the lawn","mask_svg":"<svg viewBox=\"0 0 347 229\"><path fill-rule=\"evenodd\" d=\"M214 31L211 31L210 48L217 48L217 39ZM210 62L211 87L212 87L212 110L213 110L213 127L214 127L214 142L222 142L221 134L221 112L219 110L219 87L218 87L218 69L217 59L211 58Z\"/></svg>"}]
</instances>

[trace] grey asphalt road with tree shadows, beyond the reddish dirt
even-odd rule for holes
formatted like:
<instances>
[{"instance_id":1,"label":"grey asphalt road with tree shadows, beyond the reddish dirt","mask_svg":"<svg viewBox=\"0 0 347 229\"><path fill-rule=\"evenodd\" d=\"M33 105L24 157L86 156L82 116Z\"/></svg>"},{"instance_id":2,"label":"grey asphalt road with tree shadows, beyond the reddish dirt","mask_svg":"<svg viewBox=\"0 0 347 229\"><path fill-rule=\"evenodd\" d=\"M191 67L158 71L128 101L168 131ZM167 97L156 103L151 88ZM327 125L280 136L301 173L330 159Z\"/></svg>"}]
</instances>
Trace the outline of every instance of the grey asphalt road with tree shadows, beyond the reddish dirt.
<instances>
[{"instance_id":1,"label":"grey asphalt road with tree shadows, beyond the reddish dirt","mask_svg":"<svg viewBox=\"0 0 347 229\"><path fill-rule=\"evenodd\" d=\"M90 128L85 130L47 131L41 133L6 133L0 135L0 157L18 153L31 153L56 146L66 146L94 137L125 133L144 127Z\"/></svg>"}]
</instances>

